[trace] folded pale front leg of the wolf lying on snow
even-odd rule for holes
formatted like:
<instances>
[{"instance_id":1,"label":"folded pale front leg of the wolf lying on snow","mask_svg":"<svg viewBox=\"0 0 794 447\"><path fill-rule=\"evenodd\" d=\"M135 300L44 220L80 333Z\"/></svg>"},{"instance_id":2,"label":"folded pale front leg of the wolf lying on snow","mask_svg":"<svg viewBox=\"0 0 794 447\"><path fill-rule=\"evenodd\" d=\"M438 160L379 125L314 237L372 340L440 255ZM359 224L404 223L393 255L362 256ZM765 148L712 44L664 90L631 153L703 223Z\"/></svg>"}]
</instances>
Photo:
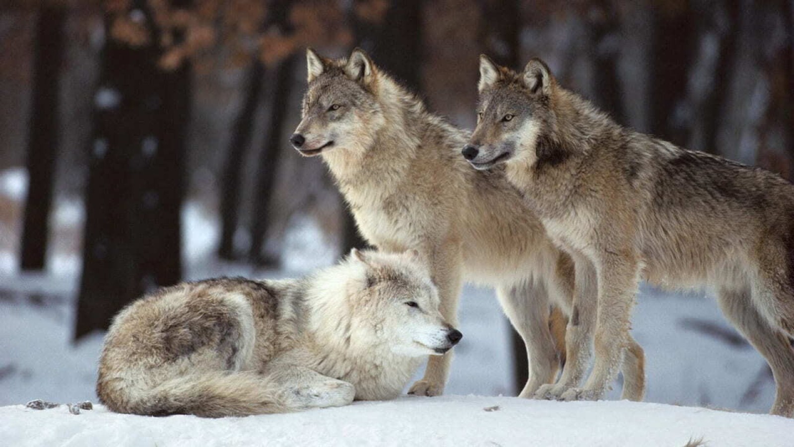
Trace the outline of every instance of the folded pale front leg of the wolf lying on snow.
<instances>
[{"instance_id":1,"label":"folded pale front leg of the wolf lying on snow","mask_svg":"<svg viewBox=\"0 0 794 447\"><path fill-rule=\"evenodd\" d=\"M283 405L289 410L345 406L353 402L356 388L307 367L284 366L268 374L279 388Z\"/></svg>"}]
</instances>

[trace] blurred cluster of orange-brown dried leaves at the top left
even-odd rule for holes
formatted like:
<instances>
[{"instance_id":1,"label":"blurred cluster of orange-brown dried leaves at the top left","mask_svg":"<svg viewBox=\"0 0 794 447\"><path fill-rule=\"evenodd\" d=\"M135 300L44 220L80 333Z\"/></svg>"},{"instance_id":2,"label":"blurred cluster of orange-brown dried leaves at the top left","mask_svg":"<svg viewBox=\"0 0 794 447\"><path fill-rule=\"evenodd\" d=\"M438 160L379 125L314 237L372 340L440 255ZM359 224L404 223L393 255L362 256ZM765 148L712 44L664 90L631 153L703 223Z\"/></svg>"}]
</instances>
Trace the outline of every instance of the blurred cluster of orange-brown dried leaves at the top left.
<instances>
[{"instance_id":1,"label":"blurred cluster of orange-brown dried leaves at the top left","mask_svg":"<svg viewBox=\"0 0 794 447\"><path fill-rule=\"evenodd\" d=\"M388 0L360 0L353 14L363 21L381 21ZM165 0L108 0L110 37L128 45L160 45L160 67L178 68L184 60L214 45L224 45L232 63L258 57L273 64L311 45L350 45L353 36L341 3L318 0L285 2L276 12L261 0L198 0L175 6ZM285 19L279 19L279 17Z\"/></svg>"}]
</instances>

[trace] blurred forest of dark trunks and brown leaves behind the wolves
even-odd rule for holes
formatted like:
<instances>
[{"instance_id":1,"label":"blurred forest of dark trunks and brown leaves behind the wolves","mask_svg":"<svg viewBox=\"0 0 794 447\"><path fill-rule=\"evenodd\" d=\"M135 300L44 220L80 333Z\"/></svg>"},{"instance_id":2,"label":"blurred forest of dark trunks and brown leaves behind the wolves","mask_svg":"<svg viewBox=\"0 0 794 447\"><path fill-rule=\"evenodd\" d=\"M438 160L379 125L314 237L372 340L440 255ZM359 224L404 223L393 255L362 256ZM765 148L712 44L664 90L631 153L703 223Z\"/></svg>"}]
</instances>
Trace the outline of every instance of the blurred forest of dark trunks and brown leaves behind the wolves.
<instances>
[{"instance_id":1,"label":"blurred forest of dark trunks and brown leaves behind the wolves","mask_svg":"<svg viewBox=\"0 0 794 447\"><path fill-rule=\"evenodd\" d=\"M156 286L363 245L287 142L306 46L360 46L468 128L477 56L540 56L626 126L792 180L792 23L784 0L5 0L0 297L76 300L79 339Z\"/></svg>"}]
</instances>

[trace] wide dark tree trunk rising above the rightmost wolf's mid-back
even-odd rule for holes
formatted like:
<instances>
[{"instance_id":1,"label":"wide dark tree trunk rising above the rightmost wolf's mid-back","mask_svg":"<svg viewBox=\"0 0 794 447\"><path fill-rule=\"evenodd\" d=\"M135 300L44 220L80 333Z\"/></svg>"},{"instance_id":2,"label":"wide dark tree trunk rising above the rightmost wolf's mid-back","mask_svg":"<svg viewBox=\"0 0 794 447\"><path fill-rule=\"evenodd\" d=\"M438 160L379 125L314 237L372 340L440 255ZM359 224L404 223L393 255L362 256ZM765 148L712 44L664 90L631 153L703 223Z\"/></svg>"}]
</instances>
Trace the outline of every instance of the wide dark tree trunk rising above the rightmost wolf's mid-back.
<instances>
[{"instance_id":1,"label":"wide dark tree trunk rising above the rightmost wolf's mid-back","mask_svg":"<svg viewBox=\"0 0 794 447\"><path fill-rule=\"evenodd\" d=\"M672 2L655 11L651 70L651 131L676 145L687 143L688 124L677 114L686 96L695 46L695 23L689 2Z\"/></svg>"}]
</instances>

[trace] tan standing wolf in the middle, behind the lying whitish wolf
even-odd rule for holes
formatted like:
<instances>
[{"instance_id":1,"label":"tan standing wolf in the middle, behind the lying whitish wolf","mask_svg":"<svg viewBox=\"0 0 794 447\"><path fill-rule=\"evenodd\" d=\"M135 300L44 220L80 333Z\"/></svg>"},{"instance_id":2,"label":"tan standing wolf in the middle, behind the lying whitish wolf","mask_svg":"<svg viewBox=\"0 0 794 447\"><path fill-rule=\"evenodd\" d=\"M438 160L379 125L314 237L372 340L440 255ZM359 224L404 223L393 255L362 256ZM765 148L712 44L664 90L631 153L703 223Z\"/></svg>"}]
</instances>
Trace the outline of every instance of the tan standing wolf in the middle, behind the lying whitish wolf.
<instances>
[{"instance_id":1,"label":"tan standing wolf in the middle, behind the lying whitish wolf","mask_svg":"<svg viewBox=\"0 0 794 447\"><path fill-rule=\"evenodd\" d=\"M426 111L361 50L349 59L306 53L309 87L291 142L322 154L362 235L384 251L416 249L430 264L441 314L457 324L461 283L495 286L504 312L526 342L530 397L557 375L565 318L571 313L573 266L500 172L476 172L459 151L468 133ZM578 317L573 314L573 319ZM557 330L549 333L549 321ZM644 392L642 348L633 344L624 396ZM570 361L570 359L569 359ZM450 355L430 358L411 387L440 395Z\"/></svg>"}]
</instances>

